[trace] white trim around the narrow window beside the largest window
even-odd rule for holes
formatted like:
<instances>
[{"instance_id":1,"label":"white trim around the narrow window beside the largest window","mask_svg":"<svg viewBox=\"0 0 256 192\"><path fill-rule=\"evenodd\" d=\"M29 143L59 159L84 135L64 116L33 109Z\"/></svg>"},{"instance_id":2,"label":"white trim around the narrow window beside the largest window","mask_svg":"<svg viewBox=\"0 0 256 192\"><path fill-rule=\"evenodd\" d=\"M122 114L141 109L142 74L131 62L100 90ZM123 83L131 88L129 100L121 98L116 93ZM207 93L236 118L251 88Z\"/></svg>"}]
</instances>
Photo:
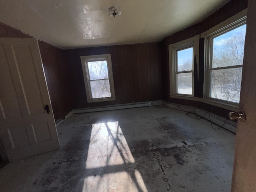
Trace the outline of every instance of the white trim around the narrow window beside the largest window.
<instances>
[{"instance_id":1,"label":"white trim around the narrow window beside the largest window","mask_svg":"<svg viewBox=\"0 0 256 192\"><path fill-rule=\"evenodd\" d=\"M169 72L170 72L170 97L171 98L193 98L194 97L194 55L196 55L197 70L199 70L199 38L200 35L169 45ZM193 69L192 69L192 95L178 94L176 82L176 51L193 47ZM198 72L198 71L197 71ZM198 73L197 73L198 74ZM199 74L198 74L199 75ZM198 78L198 77L197 77Z\"/></svg>"}]
</instances>

